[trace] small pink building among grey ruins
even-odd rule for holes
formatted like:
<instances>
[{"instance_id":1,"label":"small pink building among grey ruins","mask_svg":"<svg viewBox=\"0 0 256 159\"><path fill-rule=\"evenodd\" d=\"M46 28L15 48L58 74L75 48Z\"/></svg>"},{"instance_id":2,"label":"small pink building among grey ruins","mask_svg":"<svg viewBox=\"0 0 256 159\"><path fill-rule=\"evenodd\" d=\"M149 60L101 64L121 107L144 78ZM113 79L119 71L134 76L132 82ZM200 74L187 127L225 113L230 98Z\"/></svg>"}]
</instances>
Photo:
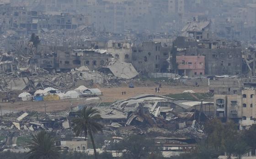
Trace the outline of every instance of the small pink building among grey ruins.
<instances>
[{"instance_id":1,"label":"small pink building among grey ruins","mask_svg":"<svg viewBox=\"0 0 256 159\"><path fill-rule=\"evenodd\" d=\"M204 75L205 56L176 56L179 75L194 77Z\"/></svg>"}]
</instances>

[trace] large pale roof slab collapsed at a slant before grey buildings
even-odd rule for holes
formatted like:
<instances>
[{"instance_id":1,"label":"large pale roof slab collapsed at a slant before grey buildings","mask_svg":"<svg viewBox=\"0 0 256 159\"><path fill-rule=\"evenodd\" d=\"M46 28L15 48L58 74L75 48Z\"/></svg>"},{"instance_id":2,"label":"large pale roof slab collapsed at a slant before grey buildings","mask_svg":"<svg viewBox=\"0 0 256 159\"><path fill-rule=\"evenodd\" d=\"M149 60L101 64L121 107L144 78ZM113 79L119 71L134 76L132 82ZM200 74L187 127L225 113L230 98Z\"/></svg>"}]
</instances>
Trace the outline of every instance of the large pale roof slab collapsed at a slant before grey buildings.
<instances>
[{"instance_id":1,"label":"large pale roof slab collapsed at a slant before grey buildings","mask_svg":"<svg viewBox=\"0 0 256 159\"><path fill-rule=\"evenodd\" d=\"M124 79L131 79L139 74L132 63L127 62L115 62L112 65L102 68L109 68L114 76Z\"/></svg>"}]
</instances>

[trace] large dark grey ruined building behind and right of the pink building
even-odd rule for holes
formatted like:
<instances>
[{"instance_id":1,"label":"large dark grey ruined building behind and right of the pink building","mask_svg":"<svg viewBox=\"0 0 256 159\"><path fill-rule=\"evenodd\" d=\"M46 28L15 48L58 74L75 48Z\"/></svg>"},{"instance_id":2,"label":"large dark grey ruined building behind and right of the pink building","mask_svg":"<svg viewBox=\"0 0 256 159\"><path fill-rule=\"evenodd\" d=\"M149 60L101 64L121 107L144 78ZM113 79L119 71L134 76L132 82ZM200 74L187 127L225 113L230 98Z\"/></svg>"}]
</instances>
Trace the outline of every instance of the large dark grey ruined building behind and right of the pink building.
<instances>
[{"instance_id":1,"label":"large dark grey ruined building behind and right of the pink building","mask_svg":"<svg viewBox=\"0 0 256 159\"><path fill-rule=\"evenodd\" d=\"M242 75L243 59L239 41L192 41L185 37L178 37L173 42L171 58L173 56L184 56L184 58L205 56L204 73L206 75ZM170 68L173 68L173 62ZM197 59L197 63L200 65L200 58Z\"/></svg>"}]
</instances>

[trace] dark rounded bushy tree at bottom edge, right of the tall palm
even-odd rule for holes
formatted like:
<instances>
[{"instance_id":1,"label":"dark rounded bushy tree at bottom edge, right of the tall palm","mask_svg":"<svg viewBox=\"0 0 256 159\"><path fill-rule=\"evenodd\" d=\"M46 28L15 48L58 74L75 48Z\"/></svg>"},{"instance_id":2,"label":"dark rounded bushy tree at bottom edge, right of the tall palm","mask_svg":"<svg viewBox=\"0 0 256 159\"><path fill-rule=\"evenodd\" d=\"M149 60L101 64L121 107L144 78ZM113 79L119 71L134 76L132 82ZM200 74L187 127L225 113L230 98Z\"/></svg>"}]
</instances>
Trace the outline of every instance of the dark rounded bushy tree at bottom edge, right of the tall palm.
<instances>
[{"instance_id":1,"label":"dark rounded bushy tree at bottom edge, right of the tall palm","mask_svg":"<svg viewBox=\"0 0 256 159\"><path fill-rule=\"evenodd\" d=\"M126 150L124 159L161 159L162 153L155 143L144 135L131 135L117 144L117 149Z\"/></svg>"}]
</instances>

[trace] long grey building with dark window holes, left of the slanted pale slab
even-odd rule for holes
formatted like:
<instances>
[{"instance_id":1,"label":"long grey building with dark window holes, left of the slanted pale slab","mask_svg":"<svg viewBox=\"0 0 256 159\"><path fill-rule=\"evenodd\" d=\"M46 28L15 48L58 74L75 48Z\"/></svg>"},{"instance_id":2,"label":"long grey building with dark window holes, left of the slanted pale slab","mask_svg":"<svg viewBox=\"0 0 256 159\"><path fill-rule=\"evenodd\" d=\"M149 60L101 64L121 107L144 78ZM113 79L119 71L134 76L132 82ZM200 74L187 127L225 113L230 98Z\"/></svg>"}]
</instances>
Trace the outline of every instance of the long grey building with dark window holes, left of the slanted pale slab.
<instances>
[{"instance_id":1,"label":"long grey building with dark window holes, left of the slanted pale slab","mask_svg":"<svg viewBox=\"0 0 256 159\"><path fill-rule=\"evenodd\" d=\"M76 49L58 52L58 68L73 69L86 66L89 70L96 70L105 65L111 57L106 50L101 49Z\"/></svg>"}]
</instances>

